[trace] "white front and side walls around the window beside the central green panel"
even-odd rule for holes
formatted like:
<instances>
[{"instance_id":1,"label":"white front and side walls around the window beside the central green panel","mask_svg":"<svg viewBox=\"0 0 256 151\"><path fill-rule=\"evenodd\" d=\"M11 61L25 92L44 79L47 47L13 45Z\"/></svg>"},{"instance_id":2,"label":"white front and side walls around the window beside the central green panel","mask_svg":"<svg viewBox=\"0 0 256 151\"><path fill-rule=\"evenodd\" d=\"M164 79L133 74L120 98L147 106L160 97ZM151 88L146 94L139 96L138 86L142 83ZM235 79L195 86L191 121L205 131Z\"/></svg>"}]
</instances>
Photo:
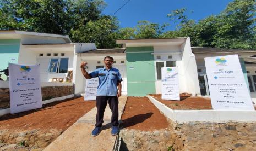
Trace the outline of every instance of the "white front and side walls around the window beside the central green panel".
<instances>
[{"instance_id":1,"label":"white front and side walls around the window beside the central green panel","mask_svg":"<svg viewBox=\"0 0 256 151\"><path fill-rule=\"evenodd\" d=\"M161 55L162 54L162 55ZM157 59L156 56L160 55L161 59ZM168 59L168 55L172 55L172 59ZM195 62L195 56L191 51L190 39L187 38L186 42L181 45L161 45L154 46L155 57L155 71L156 62L161 61L175 61L175 65L179 72L179 92L188 92L200 94L197 63ZM165 63L164 63L165 64ZM161 93L161 80L157 80L156 77L156 93Z\"/></svg>"}]
</instances>

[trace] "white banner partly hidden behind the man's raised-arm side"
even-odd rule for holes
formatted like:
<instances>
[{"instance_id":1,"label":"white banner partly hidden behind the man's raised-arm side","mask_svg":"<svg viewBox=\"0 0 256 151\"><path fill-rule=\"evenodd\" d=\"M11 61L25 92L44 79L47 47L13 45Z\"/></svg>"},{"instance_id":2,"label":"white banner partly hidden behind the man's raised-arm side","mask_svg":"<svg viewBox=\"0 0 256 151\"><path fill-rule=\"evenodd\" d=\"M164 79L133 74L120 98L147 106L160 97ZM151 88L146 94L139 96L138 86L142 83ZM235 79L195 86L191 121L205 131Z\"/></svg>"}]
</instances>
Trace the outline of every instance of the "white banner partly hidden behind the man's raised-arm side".
<instances>
[{"instance_id":1,"label":"white banner partly hidden behind the man's raised-arm side","mask_svg":"<svg viewBox=\"0 0 256 151\"><path fill-rule=\"evenodd\" d=\"M96 100L99 78L86 79L84 100Z\"/></svg>"}]
</instances>

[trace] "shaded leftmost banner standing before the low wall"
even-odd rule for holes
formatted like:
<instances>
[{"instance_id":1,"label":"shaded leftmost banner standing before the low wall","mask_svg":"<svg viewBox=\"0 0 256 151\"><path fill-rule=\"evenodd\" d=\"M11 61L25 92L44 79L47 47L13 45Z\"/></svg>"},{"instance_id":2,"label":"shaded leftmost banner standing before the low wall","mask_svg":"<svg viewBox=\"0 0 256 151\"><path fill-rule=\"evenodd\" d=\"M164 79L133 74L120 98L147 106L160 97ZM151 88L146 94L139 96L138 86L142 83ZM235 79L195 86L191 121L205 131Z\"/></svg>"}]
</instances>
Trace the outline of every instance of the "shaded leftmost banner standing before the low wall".
<instances>
[{"instance_id":1,"label":"shaded leftmost banner standing before the low wall","mask_svg":"<svg viewBox=\"0 0 256 151\"><path fill-rule=\"evenodd\" d=\"M39 65L9 64L10 113L42 107Z\"/></svg>"}]
</instances>

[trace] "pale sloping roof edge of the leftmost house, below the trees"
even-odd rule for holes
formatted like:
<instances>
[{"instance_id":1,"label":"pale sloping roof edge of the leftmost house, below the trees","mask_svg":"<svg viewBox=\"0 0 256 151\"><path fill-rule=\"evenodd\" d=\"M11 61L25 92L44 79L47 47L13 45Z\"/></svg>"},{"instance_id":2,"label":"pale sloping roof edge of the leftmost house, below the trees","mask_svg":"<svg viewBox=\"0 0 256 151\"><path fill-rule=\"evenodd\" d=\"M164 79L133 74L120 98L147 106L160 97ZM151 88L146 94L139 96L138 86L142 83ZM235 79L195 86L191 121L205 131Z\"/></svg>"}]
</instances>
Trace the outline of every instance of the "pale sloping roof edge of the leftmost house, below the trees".
<instances>
[{"instance_id":1,"label":"pale sloping roof edge of the leftmost house, below the trees","mask_svg":"<svg viewBox=\"0 0 256 151\"><path fill-rule=\"evenodd\" d=\"M66 35L17 31L17 30L0 30L0 39L8 39L8 38L9 39L17 39L17 38L20 38L20 36L22 36L22 35L63 38L66 41L66 43L72 43L72 41Z\"/></svg>"}]
</instances>

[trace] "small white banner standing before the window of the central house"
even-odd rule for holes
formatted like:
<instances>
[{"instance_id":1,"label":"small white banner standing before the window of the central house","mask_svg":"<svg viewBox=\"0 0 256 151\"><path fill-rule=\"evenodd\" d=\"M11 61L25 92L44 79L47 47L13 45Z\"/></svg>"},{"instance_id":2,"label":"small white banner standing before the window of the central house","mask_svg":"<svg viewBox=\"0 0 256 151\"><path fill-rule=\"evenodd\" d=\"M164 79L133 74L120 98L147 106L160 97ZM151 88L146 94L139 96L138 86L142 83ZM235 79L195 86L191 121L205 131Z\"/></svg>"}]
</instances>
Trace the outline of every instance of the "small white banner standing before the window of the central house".
<instances>
[{"instance_id":1,"label":"small white banner standing before the window of the central house","mask_svg":"<svg viewBox=\"0 0 256 151\"><path fill-rule=\"evenodd\" d=\"M162 68L162 100L180 100L177 67Z\"/></svg>"}]
</instances>

